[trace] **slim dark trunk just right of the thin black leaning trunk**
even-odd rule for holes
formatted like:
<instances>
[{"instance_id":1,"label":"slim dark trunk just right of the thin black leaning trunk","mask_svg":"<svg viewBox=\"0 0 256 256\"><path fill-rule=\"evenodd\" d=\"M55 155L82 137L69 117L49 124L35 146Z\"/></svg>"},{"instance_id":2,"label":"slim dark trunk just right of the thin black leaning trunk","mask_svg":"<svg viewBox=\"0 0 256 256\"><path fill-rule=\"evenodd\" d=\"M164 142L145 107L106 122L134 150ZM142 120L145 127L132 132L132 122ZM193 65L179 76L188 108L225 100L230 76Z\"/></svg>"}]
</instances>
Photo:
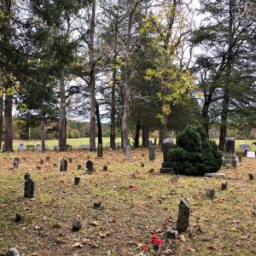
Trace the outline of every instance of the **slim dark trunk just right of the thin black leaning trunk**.
<instances>
[{"instance_id":1,"label":"slim dark trunk just right of the thin black leaning trunk","mask_svg":"<svg viewBox=\"0 0 256 256\"><path fill-rule=\"evenodd\" d=\"M114 56L116 59L116 55ZM115 61L114 61L115 62ZM111 89L111 116L110 116L110 148L115 149L115 85L116 85L116 67L112 71L112 89Z\"/></svg>"}]
</instances>

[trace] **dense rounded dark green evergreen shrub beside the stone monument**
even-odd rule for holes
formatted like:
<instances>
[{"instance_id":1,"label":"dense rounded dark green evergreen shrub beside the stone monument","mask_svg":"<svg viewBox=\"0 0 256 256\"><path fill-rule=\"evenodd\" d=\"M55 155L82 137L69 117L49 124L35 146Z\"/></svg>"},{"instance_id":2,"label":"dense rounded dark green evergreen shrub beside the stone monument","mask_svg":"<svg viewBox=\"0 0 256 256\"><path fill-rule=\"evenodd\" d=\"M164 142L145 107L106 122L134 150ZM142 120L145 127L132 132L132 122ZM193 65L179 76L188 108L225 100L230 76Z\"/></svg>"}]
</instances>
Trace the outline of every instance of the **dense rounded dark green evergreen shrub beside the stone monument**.
<instances>
[{"instance_id":1,"label":"dense rounded dark green evergreen shrub beside the stone monument","mask_svg":"<svg viewBox=\"0 0 256 256\"><path fill-rule=\"evenodd\" d=\"M197 122L177 135L174 148L168 152L174 172L203 176L207 172L218 172L222 166L222 154L214 141L207 137L207 132Z\"/></svg>"}]
</instances>

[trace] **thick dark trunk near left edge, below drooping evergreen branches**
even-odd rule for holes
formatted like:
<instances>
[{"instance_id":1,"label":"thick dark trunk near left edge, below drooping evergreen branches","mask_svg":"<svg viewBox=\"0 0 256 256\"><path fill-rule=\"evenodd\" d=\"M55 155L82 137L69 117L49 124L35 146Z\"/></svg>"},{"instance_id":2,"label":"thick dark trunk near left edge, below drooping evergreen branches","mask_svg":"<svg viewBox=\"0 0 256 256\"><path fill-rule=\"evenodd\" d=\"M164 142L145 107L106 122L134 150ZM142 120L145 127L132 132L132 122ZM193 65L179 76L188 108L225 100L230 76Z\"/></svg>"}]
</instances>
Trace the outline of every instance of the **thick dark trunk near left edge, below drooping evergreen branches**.
<instances>
[{"instance_id":1,"label":"thick dark trunk near left edge, below drooping evergreen branches","mask_svg":"<svg viewBox=\"0 0 256 256\"><path fill-rule=\"evenodd\" d=\"M13 96L5 95L5 107L4 107L4 121L5 121L5 131L4 131L4 148L5 152L12 152L13 149Z\"/></svg>"}]
</instances>

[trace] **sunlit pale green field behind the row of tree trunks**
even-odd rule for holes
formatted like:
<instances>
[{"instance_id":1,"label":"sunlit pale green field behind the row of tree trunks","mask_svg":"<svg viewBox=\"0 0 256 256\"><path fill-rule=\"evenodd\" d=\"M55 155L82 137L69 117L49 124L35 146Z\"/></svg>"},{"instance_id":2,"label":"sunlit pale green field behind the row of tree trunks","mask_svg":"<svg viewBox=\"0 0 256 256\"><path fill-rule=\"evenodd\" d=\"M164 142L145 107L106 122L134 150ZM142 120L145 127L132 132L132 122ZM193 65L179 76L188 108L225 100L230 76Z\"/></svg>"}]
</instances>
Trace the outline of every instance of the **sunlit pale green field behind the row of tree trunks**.
<instances>
[{"instance_id":1,"label":"sunlit pale green field behind the row of tree trunks","mask_svg":"<svg viewBox=\"0 0 256 256\"><path fill-rule=\"evenodd\" d=\"M150 138L152 142L154 143L154 138ZM216 143L218 143L218 139L214 139ZM174 139L174 142L176 139ZM115 140L116 143L121 143L121 137L117 137ZM131 138L131 143L133 142L133 139ZM239 150L239 144L249 144L251 145L254 142L254 140L236 140L236 150ZM18 148L18 145L20 143L24 143L25 145L37 145L41 144L40 141L32 140L32 141L21 141L21 140L16 140L14 142L14 149ZM96 143L97 143L97 138L96 138ZM142 143L142 140L140 140L140 143ZM157 140L158 143L158 140ZM48 148L51 149L54 146L57 146L59 144L58 140L47 140L46 144L48 145ZM73 138L73 139L67 139L67 144L72 145L73 147L79 147L80 145L89 145L90 144L90 138L89 137L81 137L81 138ZM109 145L109 137L103 137L103 146ZM254 146L253 148L256 149Z\"/></svg>"}]
</instances>

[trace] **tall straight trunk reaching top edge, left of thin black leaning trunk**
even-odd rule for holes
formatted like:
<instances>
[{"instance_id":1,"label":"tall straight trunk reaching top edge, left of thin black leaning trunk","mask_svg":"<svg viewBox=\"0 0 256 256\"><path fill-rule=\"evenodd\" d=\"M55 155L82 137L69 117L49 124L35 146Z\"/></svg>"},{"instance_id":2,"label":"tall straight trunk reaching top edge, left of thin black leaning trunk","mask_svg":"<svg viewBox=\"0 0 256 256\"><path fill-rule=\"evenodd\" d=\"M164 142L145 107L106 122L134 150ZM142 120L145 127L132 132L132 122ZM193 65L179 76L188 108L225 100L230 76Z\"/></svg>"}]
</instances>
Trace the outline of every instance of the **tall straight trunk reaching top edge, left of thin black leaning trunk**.
<instances>
[{"instance_id":1,"label":"tall straight trunk reaching top edge, left of thin black leaning trunk","mask_svg":"<svg viewBox=\"0 0 256 256\"><path fill-rule=\"evenodd\" d=\"M95 90L95 53L94 53L94 36L95 36L95 16L96 0L91 3L90 18L90 151L96 151L96 90Z\"/></svg>"}]
</instances>

